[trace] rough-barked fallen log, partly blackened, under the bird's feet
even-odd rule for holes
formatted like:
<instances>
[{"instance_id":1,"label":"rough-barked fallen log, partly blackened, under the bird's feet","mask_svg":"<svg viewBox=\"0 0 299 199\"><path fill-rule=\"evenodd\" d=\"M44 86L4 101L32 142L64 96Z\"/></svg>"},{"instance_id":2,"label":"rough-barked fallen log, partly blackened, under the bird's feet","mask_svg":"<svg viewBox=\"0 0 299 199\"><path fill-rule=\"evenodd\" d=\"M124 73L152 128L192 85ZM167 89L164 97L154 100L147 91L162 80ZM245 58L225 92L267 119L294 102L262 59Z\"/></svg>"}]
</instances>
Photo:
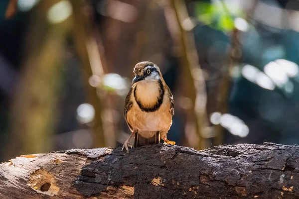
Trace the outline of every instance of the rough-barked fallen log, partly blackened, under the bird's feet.
<instances>
[{"instance_id":1,"label":"rough-barked fallen log, partly blackened, under the bird's feet","mask_svg":"<svg viewBox=\"0 0 299 199\"><path fill-rule=\"evenodd\" d=\"M0 164L1 199L297 199L299 145L147 145L24 155Z\"/></svg>"}]
</instances>

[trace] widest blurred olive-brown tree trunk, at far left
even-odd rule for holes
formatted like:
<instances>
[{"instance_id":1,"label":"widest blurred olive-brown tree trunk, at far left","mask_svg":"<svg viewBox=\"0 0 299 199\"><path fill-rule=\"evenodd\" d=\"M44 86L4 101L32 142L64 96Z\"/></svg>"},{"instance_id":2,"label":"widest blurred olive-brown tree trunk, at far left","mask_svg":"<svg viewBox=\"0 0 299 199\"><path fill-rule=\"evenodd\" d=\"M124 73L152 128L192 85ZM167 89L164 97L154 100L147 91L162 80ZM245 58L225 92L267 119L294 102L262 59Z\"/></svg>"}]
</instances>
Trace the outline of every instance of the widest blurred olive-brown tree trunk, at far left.
<instances>
[{"instance_id":1,"label":"widest blurred olive-brown tree trunk, at far left","mask_svg":"<svg viewBox=\"0 0 299 199\"><path fill-rule=\"evenodd\" d=\"M21 76L11 106L5 158L51 150L64 40L70 23L68 19L49 22L48 10L57 2L43 0L32 10Z\"/></svg>"}]
</instances>

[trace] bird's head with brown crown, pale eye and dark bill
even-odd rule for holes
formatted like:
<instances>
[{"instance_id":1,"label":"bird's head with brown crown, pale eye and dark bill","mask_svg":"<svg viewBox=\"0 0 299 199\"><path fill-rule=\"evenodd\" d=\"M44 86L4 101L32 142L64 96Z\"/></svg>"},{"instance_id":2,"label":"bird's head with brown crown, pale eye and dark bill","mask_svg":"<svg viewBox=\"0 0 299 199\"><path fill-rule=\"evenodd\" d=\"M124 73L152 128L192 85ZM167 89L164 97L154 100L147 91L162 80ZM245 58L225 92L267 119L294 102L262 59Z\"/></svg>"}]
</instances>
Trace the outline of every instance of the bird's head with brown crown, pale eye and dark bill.
<instances>
[{"instance_id":1,"label":"bird's head with brown crown, pale eye and dark bill","mask_svg":"<svg viewBox=\"0 0 299 199\"><path fill-rule=\"evenodd\" d=\"M140 62L134 68L135 78L132 85L140 81L158 81L161 79L160 69L152 62Z\"/></svg>"}]
</instances>

